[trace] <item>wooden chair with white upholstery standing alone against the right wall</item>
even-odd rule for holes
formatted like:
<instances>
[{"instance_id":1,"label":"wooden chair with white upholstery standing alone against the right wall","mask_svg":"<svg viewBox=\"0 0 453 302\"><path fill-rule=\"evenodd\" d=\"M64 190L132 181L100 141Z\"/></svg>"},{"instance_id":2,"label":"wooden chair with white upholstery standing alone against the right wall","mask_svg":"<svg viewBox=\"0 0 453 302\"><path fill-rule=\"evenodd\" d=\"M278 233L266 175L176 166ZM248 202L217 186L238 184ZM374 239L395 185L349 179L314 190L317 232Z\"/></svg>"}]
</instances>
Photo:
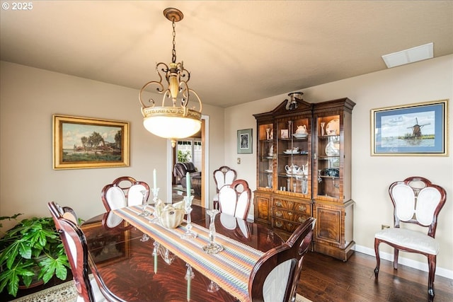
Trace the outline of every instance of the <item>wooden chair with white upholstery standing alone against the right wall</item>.
<instances>
[{"instance_id":1,"label":"wooden chair with white upholstery standing alone against the right wall","mask_svg":"<svg viewBox=\"0 0 453 302\"><path fill-rule=\"evenodd\" d=\"M379 244L386 243L394 248L394 269L398 269L398 252L416 252L428 257L428 297L434 299L434 277L436 256L439 243L435 240L437 216L444 207L447 193L444 188L433 185L430 180L412 176L390 185L389 194L394 204L394 227L384 228L374 235L374 252L376 268L374 276L378 277ZM403 223L418 224L428 228L428 233L413 229L401 228Z\"/></svg>"}]
</instances>

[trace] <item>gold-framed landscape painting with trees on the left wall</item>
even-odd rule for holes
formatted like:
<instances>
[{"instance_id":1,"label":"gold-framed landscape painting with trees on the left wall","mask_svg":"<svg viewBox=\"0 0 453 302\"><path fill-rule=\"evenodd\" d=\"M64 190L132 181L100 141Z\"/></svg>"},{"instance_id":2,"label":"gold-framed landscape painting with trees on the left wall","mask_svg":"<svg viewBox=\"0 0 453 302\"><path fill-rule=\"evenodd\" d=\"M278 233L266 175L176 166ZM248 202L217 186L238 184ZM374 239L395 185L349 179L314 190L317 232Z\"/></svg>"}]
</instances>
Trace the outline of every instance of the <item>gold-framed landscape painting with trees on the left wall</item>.
<instances>
[{"instance_id":1,"label":"gold-framed landscape painting with trees on the left wall","mask_svg":"<svg viewBox=\"0 0 453 302\"><path fill-rule=\"evenodd\" d=\"M129 166L129 122L53 116L53 168Z\"/></svg>"}]
</instances>

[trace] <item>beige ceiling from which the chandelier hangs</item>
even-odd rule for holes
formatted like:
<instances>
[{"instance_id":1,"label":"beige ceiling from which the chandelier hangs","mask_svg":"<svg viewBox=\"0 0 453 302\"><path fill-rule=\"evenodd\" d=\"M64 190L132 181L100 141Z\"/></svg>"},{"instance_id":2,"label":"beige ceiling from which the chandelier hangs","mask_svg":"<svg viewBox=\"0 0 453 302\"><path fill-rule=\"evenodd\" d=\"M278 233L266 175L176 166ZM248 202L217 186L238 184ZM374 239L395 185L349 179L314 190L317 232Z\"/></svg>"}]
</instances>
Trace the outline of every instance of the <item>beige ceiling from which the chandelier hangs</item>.
<instances>
[{"instance_id":1,"label":"beige ceiling from which the chandelier hangs","mask_svg":"<svg viewBox=\"0 0 453 302\"><path fill-rule=\"evenodd\" d=\"M1 60L134 89L171 62L163 11L180 9L177 62L202 103L224 108L386 69L383 54L429 42L453 53L453 1L30 3L2 1Z\"/></svg>"}]
</instances>

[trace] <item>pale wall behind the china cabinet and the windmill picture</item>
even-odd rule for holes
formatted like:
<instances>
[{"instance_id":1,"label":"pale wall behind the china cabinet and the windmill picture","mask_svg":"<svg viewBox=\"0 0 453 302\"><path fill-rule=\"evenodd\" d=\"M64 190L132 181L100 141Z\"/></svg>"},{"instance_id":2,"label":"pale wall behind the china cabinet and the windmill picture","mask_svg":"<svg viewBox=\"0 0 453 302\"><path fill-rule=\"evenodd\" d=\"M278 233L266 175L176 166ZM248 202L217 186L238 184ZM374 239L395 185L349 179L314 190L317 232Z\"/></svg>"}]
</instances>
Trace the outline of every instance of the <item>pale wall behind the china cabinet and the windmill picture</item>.
<instances>
[{"instance_id":1,"label":"pale wall behind the china cabinet and the windmill picture","mask_svg":"<svg viewBox=\"0 0 453 302\"><path fill-rule=\"evenodd\" d=\"M290 91L288 91L290 92ZM453 55L365 74L351 79L327 83L302 90L304 100L319 103L348 97L355 105L352 111L352 199L355 200L354 240L356 250L374 255L374 233L382 224L393 223L393 207L388 196L391 182L420 175L447 190L447 203L440 212L436 238L440 242L437 273L453 279L453 159L452 139L447 157L370 156L370 110L430 100L449 99L448 116L452 114ZM238 171L239 178L248 180L256 189L256 147L253 154L236 153L236 131L253 128L254 113L268 112L287 98L277 95L225 110L225 164ZM449 137L452 136L449 123ZM236 158L242 159L236 164ZM382 245L381 250L391 252ZM403 258L423 263L426 257L401 253ZM410 262L410 261L409 261ZM409 263L410 264L410 263Z\"/></svg>"}]
</instances>

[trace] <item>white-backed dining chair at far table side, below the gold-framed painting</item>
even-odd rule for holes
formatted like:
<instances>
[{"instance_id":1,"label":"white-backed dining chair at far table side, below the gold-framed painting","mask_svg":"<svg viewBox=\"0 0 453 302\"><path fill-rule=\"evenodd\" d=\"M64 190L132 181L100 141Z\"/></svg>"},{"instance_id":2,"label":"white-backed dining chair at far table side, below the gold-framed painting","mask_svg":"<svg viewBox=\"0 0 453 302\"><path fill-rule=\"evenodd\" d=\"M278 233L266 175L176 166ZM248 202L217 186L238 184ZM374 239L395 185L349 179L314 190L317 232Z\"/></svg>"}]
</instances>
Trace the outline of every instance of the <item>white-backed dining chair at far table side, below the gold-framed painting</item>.
<instances>
[{"instance_id":1,"label":"white-backed dining chair at far table side, below the gold-framed painting","mask_svg":"<svg viewBox=\"0 0 453 302\"><path fill-rule=\"evenodd\" d=\"M101 199L107 211L142 204L143 194L145 199L149 197L149 185L143 181L137 181L130 176L122 176L105 185L101 191Z\"/></svg>"}]
</instances>

